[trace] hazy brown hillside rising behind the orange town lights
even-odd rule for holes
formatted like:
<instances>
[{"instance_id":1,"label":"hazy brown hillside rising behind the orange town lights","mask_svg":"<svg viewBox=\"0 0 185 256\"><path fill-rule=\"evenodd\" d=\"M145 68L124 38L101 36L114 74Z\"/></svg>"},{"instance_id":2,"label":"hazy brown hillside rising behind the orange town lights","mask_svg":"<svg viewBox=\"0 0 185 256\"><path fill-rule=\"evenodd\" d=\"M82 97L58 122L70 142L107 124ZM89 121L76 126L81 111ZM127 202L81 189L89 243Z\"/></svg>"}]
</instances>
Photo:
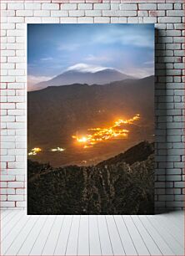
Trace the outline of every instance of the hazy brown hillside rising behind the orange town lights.
<instances>
[{"instance_id":1,"label":"hazy brown hillside rising behind the orange town lights","mask_svg":"<svg viewBox=\"0 0 185 256\"><path fill-rule=\"evenodd\" d=\"M153 90L152 76L28 92L28 147L53 147L58 143L65 147L79 129L106 125L115 117L129 118L136 113L142 115L141 125L150 130L145 133L153 133Z\"/></svg>"}]
</instances>

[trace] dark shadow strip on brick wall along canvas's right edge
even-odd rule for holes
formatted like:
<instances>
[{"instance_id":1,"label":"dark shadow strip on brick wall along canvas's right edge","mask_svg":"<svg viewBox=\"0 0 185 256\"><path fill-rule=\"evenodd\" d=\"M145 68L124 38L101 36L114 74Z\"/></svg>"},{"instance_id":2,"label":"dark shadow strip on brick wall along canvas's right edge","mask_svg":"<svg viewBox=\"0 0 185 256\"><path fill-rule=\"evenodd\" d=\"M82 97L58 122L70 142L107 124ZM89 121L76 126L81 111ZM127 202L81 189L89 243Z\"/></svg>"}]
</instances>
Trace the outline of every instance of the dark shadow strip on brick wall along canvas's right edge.
<instances>
[{"instance_id":1,"label":"dark shadow strip on brick wall along canvas's right edge","mask_svg":"<svg viewBox=\"0 0 185 256\"><path fill-rule=\"evenodd\" d=\"M163 32L155 29L155 213L174 210L166 206L168 165L168 101L167 101L167 67L165 63L165 38ZM168 187L168 194L173 195L173 187Z\"/></svg>"}]
</instances>

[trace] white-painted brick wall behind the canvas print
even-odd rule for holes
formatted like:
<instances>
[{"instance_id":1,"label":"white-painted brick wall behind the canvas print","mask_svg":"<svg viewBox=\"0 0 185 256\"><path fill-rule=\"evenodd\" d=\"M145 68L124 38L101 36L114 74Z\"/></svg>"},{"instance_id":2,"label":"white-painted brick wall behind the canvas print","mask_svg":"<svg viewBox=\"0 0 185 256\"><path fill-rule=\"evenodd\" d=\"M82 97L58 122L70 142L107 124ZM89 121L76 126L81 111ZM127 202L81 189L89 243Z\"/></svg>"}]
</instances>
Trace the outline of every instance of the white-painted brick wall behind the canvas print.
<instances>
[{"instance_id":1,"label":"white-painted brick wall behind the canvas print","mask_svg":"<svg viewBox=\"0 0 185 256\"><path fill-rule=\"evenodd\" d=\"M156 23L156 209L184 205L183 0L1 1L1 207L26 206L26 23Z\"/></svg>"}]
</instances>

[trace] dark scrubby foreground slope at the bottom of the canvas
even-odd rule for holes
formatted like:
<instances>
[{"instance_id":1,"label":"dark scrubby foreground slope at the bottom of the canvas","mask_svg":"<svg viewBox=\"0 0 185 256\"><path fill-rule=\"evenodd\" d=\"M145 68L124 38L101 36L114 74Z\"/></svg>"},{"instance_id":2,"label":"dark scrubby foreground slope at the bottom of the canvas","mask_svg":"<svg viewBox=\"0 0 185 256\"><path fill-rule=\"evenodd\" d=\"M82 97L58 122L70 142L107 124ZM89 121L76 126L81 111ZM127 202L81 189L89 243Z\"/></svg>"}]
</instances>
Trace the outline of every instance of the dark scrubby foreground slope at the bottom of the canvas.
<instances>
[{"instance_id":1,"label":"dark scrubby foreground slope at the bottom of the canvas","mask_svg":"<svg viewBox=\"0 0 185 256\"><path fill-rule=\"evenodd\" d=\"M28 160L28 214L153 214L153 143L97 166L53 168Z\"/></svg>"}]
</instances>

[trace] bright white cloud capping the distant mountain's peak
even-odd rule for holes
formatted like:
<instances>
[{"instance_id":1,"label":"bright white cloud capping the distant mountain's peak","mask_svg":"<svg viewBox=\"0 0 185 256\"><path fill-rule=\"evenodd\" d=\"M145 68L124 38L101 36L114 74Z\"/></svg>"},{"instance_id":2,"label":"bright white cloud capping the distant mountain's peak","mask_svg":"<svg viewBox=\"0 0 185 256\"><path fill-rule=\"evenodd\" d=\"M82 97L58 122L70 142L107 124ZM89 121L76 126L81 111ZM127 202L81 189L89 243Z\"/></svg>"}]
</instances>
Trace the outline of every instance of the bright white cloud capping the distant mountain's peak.
<instances>
[{"instance_id":1,"label":"bright white cloud capping the distant mountain's peak","mask_svg":"<svg viewBox=\"0 0 185 256\"><path fill-rule=\"evenodd\" d=\"M92 64L84 64L84 63L78 63L75 65L72 65L71 67L68 67L66 71L69 70L77 70L80 72L91 72L91 73L96 73L97 71L101 71L104 69L111 69L103 66L97 66L97 65L92 65Z\"/></svg>"}]
</instances>

